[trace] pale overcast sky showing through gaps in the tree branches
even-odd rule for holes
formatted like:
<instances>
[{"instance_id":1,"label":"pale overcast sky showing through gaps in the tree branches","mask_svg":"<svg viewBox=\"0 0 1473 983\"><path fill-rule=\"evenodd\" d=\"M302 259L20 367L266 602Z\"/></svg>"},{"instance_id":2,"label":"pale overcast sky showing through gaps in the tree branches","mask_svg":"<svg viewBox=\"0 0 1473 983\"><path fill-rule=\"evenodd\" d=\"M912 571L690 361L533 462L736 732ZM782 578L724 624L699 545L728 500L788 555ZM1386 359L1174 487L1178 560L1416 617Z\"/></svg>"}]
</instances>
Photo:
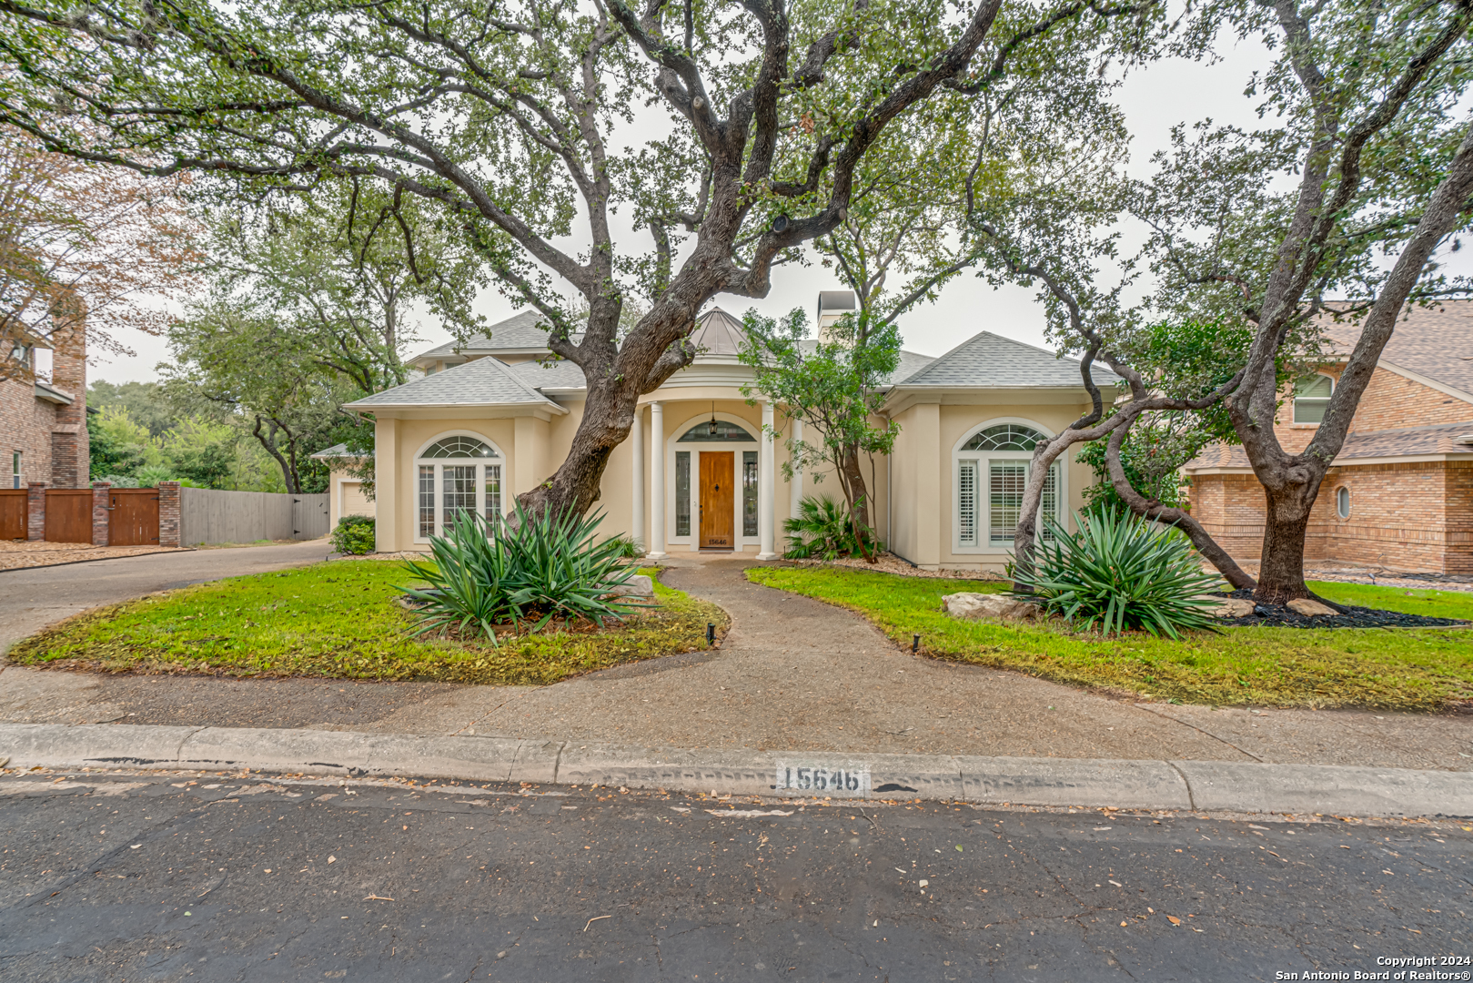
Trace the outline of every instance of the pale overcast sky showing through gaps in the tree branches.
<instances>
[{"instance_id":1,"label":"pale overcast sky showing through gaps in the tree branches","mask_svg":"<svg viewBox=\"0 0 1473 983\"><path fill-rule=\"evenodd\" d=\"M1224 44L1220 53L1223 60L1217 65L1164 60L1125 78L1118 100L1133 134L1130 169L1134 174L1145 175L1150 155L1168 146L1171 127L1178 122L1196 122L1209 116L1218 124L1237 124L1245 128L1258 125L1254 100L1243 96L1243 88L1255 69L1268 65L1265 50L1255 41L1245 41L1236 46ZM1127 240L1133 237L1133 230L1122 231ZM642 249L647 239L648 234L644 233L633 242ZM804 268L778 267L772 281L772 292L762 301L720 295L714 302L738 315L751 307L769 315L787 312L794 307L804 307L812 312L819 290L843 289L834 274L818 264ZM501 320L517 309L495 290L479 299L479 308L488 321ZM980 330L1041 346L1043 308L1037 302L1036 290L993 289L984 280L962 276L943 289L935 304L913 308L901 317L900 327L904 346L927 355L940 355ZM420 335L423 337L420 351L449 340L446 332L430 323L421 324ZM156 379L155 365L168 357L164 339L133 335L119 340L136 349L137 355L133 358L94 355L91 379L108 382Z\"/></svg>"}]
</instances>

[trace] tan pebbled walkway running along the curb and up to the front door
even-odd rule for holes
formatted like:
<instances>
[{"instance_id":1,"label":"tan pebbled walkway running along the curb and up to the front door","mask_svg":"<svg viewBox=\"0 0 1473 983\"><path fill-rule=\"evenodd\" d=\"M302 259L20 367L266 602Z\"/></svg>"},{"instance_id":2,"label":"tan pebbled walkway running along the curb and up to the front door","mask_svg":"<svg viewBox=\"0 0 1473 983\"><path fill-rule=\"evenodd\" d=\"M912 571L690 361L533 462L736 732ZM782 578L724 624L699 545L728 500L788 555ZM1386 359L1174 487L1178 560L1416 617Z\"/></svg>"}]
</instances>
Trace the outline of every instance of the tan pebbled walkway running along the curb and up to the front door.
<instances>
[{"instance_id":1,"label":"tan pebbled walkway running along the curb and up to the front door","mask_svg":"<svg viewBox=\"0 0 1473 983\"><path fill-rule=\"evenodd\" d=\"M12 668L0 674L0 719L492 734L574 747L586 741L1458 771L1473 765L1467 716L1131 703L1019 674L913 657L848 612L748 584L742 576L748 564L678 557L664 575L672 587L732 615L719 650L551 687L96 676Z\"/></svg>"}]
</instances>

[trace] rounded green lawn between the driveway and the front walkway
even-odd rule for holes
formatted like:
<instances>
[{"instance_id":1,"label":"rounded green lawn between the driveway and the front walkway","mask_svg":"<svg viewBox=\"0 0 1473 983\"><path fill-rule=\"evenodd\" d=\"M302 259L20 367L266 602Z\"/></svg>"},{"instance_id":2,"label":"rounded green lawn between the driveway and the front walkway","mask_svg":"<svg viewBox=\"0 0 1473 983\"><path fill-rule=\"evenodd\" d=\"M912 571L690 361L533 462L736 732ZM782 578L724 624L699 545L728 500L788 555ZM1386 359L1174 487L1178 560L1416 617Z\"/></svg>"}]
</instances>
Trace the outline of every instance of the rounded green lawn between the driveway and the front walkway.
<instances>
[{"instance_id":1,"label":"rounded green lawn between the driveway and the front walkway","mask_svg":"<svg viewBox=\"0 0 1473 983\"><path fill-rule=\"evenodd\" d=\"M620 628L502 638L501 648L411 640L412 618L393 603L408 582L404 564L384 560L239 576L78 615L9 657L115 672L548 684L704 648L706 623L726 625L714 604L655 581L660 607Z\"/></svg>"}]
</instances>

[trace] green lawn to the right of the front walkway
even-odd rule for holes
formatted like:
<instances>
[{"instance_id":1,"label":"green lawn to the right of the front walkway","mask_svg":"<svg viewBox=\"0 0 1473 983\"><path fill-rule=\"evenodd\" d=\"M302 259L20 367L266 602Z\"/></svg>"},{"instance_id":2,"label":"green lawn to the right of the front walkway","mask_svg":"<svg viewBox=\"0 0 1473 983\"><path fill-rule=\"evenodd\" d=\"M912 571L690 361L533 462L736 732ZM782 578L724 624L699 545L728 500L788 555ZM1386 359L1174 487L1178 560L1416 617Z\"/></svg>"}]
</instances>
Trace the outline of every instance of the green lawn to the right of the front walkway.
<instances>
[{"instance_id":1,"label":"green lawn to the right of the front walkway","mask_svg":"<svg viewBox=\"0 0 1473 983\"><path fill-rule=\"evenodd\" d=\"M928 656L1159 700L1401 710L1473 700L1469 629L1227 628L1181 641L1143 632L1100 638L1059 622L974 622L941 612L944 594L1002 591L997 582L841 567L753 567L747 578L860 612L907 648L919 634ZM1342 603L1473 619L1469 594L1324 582L1312 590Z\"/></svg>"}]
</instances>

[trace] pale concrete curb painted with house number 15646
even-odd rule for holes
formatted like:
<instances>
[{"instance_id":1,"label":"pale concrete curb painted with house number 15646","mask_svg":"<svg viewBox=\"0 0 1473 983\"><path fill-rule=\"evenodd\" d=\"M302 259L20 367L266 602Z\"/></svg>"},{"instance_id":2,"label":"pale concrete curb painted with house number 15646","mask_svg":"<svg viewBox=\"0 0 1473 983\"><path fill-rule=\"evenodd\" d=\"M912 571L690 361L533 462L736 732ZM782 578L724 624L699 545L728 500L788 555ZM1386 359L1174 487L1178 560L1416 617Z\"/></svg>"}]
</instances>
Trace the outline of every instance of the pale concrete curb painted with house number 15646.
<instances>
[{"instance_id":1,"label":"pale concrete curb painted with house number 15646","mask_svg":"<svg viewBox=\"0 0 1473 983\"><path fill-rule=\"evenodd\" d=\"M1339 765L572 747L558 740L0 724L9 768L186 768L1339 816L1473 816L1473 774Z\"/></svg>"}]
</instances>

